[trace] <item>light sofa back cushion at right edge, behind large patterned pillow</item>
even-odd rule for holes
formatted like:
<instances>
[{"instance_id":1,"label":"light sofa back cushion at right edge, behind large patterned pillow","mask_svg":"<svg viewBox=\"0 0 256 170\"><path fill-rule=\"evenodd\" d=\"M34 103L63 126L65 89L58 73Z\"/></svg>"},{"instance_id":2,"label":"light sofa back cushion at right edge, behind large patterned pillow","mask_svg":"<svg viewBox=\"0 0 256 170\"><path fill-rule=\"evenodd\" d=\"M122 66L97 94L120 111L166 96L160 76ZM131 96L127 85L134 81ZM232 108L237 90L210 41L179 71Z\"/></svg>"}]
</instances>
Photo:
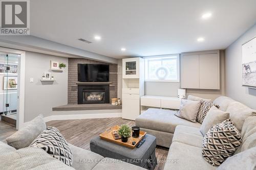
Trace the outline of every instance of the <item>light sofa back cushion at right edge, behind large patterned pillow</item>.
<instances>
[{"instance_id":1,"label":"light sofa back cushion at right edge, behind large patterned pillow","mask_svg":"<svg viewBox=\"0 0 256 170\"><path fill-rule=\"evenodd\" d=\"M250 116L245 119L241 135L243 141L236 154L256 147L256 116Z\"/></svg>"}]
</instances>

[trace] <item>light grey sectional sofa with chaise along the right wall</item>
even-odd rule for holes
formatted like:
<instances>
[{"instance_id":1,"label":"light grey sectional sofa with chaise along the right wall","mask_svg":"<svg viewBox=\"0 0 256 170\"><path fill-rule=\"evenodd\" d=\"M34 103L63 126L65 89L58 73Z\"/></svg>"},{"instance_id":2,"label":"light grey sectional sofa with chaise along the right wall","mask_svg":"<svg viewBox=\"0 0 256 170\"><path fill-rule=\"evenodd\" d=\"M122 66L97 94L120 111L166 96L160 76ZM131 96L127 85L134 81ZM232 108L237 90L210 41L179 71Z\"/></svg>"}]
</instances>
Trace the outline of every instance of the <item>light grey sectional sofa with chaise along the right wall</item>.
<instances>
[{"instance_id":1,"label":"light grey sectional sofa with chaise along the right wall","mask_svg":"<svg viewBox=\"0 0 256 170\"><path fill-rule=\"evenodd\" d=\"M219 105L220 110L229 112L229 118L241 132L243 142L235 154L250 148L256 151L255 110L226 96L220 96L214 101L214 104ZM169 148L164 169L216 169L216 166L211 166L202 157L201 124L179 118L174 113L175 111L172 110L148 109L136 118L136 126L156 136L158 145ZM254 158L256 158L256 153ZM245 158L245 160L249 159ZM231 167L232 169L241 169L245 165L246 162ZM251 169L256 168L255 160L252 166Z\"/></svg>"}]
</instances>

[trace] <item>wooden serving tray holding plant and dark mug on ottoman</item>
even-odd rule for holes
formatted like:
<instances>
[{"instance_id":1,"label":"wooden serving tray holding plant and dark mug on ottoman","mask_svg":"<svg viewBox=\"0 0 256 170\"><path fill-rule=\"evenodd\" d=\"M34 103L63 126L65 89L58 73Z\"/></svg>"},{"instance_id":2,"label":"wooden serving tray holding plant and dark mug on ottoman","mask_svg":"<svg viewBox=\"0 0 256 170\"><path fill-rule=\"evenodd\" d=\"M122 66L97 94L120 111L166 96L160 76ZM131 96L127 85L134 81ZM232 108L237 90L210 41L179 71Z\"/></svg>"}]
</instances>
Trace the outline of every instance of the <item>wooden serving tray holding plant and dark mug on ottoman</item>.
<instances>
[{"instance_id":1,"label":"wooden serving tray holding plant and dark mug on ottoman","mask_svg":"<svg viewBox=\"0 0 256 170\"><path fill-rule=\"evenodd\" d=\"M137 144L140 142L140 140L146 135L146 132L143 132L143 131L140 131L140 136L137 137L137 138L134 138L132 137L132 134L131 134L131 137L128 138L128 141L127 142L122 142L121 139L114 139L114 136L112 134L112 131L118 131L119 130L119 126L116 125L112 128L109 128L107 129L105 132L101 133L99 136L101 139L104 139L104 140L108 140L108 141L111 141L111 142L114 142L114 143L118 143L118 144L121 144L125 147L129 147L129 148L132 148L134 149ZM135 141L135 145L132 144L132 142Z\"/></svg>"}]
</instances>

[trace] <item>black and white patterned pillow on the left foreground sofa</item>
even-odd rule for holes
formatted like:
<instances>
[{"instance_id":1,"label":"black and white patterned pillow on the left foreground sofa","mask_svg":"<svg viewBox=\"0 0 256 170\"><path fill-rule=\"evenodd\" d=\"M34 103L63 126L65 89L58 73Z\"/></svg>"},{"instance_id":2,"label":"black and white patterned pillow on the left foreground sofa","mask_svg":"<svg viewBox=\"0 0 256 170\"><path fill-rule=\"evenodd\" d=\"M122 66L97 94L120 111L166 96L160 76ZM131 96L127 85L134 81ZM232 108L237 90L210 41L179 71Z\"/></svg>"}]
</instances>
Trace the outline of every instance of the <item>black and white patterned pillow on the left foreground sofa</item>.
<instances>
[{"instance_id":1,"label":"black and white patterned pillow on the left foreground sofa","mask_svg":"<svg viewBox=\"0 0 256 170\"><path fill-rule=\"evenodd\" d=\"M47 127L35 140L30 147L37 147L45 150L54 158L71 166L73 155L68 142L55 127Z\"/></svg>"}]
</instances>

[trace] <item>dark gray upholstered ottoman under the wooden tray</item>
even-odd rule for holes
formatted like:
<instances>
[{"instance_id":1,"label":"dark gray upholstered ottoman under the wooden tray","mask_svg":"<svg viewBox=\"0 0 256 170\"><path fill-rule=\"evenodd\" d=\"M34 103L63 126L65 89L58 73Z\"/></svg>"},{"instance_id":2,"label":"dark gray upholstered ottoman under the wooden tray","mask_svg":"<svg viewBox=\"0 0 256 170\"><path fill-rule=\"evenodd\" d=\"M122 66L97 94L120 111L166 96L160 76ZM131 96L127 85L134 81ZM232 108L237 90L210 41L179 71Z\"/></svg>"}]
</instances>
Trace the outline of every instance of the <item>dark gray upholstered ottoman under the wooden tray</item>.
<instances>
[{"instance_id":1,"label":"dark gray upholstered ottoman under the wooden tray","mask_svg":"<svg viewBox=\"0 0 256 170\"><path fill-rule=\"evenodd\" d=\"M146 169L154 169L156 159L156 137L146 134L140 148L130 149L122 145L101 139L99 136L91 139L90 149L103 157L119 159Z\"/></svg>"}]
</instances>

